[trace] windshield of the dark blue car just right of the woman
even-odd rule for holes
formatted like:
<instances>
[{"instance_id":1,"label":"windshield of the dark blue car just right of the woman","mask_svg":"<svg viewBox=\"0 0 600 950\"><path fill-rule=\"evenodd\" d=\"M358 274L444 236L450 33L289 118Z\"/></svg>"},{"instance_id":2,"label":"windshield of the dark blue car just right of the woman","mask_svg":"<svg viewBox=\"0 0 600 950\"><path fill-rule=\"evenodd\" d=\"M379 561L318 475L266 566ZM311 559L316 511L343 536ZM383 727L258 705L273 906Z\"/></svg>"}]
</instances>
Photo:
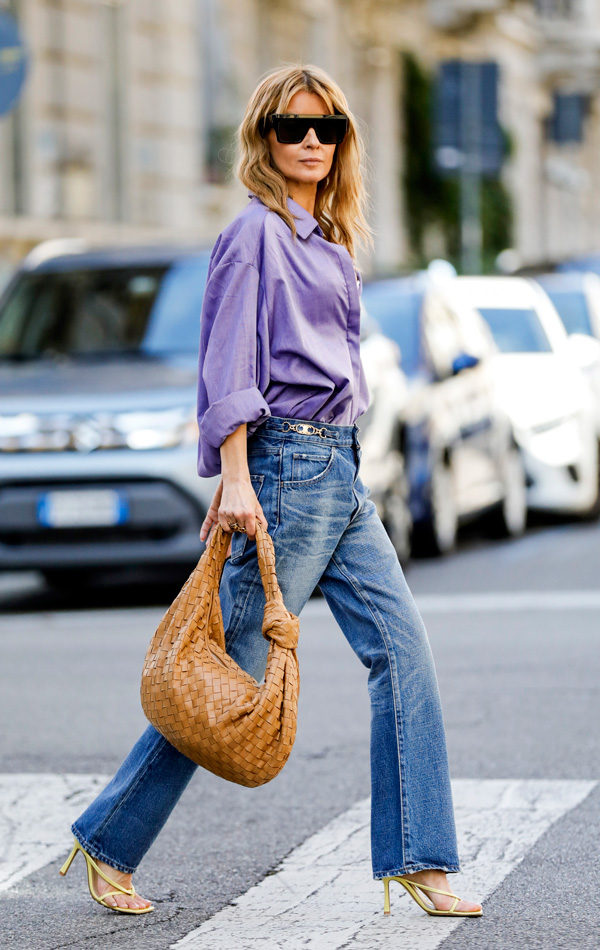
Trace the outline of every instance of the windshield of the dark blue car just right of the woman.
<instances>
[{"instance_id":1,"label":"windshield of the dark blue car just right of the woman","mask_svg":"<svg viewBox=\"0 0 600 950\"><path fill-rule=\"evenodd\" d=\"M416 376L421 356L421 307L423 294L414 291L382 290L367 284L362 293L369 312L382 333L400 347L401 365L407 376Z\"/></svg>"}]
</instances>

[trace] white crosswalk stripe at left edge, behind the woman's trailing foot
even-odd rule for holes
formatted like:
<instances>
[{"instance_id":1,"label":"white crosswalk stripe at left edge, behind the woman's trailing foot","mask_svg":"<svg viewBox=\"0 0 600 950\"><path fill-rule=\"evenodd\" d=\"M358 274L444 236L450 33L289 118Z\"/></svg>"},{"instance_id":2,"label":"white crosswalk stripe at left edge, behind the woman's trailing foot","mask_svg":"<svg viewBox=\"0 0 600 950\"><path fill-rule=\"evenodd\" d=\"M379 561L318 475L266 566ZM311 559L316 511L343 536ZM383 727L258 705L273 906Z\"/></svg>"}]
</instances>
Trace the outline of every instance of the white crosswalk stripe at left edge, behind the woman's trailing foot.
<instances>
[{"instance_id":1,"label":"white crosswalk stripe at left edge, behind the woman's trailing foot","mask_svg":"<svg viewBox=\"0 0 600 950\"><path fill-rule=\"evenodd\" d=\"M0 775L0 891L71 850L72 822L104 775Z\"/></svg>"}]
</instances>

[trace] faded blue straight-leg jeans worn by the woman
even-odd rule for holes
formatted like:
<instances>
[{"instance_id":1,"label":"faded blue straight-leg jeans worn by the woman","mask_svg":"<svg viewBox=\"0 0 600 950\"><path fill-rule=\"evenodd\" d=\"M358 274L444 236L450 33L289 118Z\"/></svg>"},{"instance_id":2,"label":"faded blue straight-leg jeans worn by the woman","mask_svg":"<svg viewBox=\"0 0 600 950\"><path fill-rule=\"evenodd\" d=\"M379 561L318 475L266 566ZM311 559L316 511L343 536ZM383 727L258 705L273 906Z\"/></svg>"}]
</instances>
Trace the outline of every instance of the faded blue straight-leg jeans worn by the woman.
<instances>
[{"instance_id":1,"label":"faded blue straight-leg jeans worn by the woman","mask_svg":"<svg viewBox=\"0 0 600 950\"><path fill-rule=\"evenodd\" d=\"M252 485L277 578L297 615L315 587L369 670L373 876L459 871L438 681L394 547L359 476L358 426L269 417L249 438ZM311 423L309 423L310 425ZM220 601L228 653L257 680L269 644L256 542L234 532ZM133 872L197 766L148 726L72 831L94 857Z\"/></svg>"}]
</instances>

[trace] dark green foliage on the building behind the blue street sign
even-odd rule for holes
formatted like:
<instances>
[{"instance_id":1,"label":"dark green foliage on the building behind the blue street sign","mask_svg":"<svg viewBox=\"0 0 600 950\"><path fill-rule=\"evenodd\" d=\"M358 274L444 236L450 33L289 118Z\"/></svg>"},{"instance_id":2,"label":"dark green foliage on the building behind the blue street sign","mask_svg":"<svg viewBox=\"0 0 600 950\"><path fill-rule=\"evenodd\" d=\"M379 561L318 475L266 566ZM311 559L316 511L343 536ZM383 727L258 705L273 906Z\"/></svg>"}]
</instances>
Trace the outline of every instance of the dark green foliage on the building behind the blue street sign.
<instances>
[{"instance_id":1,"label":"dark green foliage on the building behind the blue street sign","mask_svg":"<svg viewBox=\"0 0 600 950\"><path fill-rule=\"evenodd\" d=\"M437 227L446 256L460 269L460 186L442 176L433 161L434 83L412 53L403 54L404 130L406 156L403 174L404 207L413 266L428 263L427 230ZM505 154L513 151L510 133L503 130ZM483 266L493 270L494 259L512 243L511 197L500 178L484 178L481 185Z\"/></svg>"}]
</instances>

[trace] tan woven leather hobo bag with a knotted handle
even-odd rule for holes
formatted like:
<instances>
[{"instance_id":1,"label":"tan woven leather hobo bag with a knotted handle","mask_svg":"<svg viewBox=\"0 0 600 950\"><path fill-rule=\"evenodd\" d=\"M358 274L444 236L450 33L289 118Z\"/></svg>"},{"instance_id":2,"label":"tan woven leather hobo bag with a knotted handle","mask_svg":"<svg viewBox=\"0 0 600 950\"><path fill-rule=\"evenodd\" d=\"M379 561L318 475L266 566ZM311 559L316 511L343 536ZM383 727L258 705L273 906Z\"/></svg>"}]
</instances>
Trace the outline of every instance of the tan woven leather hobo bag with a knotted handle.
<instances>
[{"instance_id":1,"label":"tan woven leather hobo bag with a knotted handle","mask_svg":"<svg viewBox=\"0 0 600 950\"><path fill-rule=\"evenodd\" d=\"M262 632L271 641L264 683L229 656L219 584L230 540L217 524L161 620L146 653L141 698L152 725L176 749L230 782L255 787L281 771L296 737L300 621L285 608L273 541L257 519Z\"/></svg>"}]
</instances>

